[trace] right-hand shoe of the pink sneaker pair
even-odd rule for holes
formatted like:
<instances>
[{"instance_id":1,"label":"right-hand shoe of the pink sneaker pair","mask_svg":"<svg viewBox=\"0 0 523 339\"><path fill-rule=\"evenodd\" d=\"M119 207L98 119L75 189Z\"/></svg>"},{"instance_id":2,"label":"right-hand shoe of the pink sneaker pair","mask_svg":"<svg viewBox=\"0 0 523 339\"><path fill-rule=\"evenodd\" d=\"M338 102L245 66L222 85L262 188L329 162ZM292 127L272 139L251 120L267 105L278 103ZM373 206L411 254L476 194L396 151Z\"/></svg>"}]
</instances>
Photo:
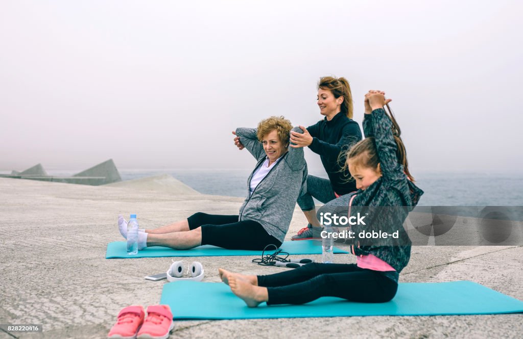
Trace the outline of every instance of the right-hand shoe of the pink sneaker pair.
<instances>
[{"instance_id":1,"label":"right-hand shoe of the pink sneaker pair","mask_svg":"<svg viewBox=\"0 0 523 339\"><path fill-rule=\"evenodd\" d=\"M174 328L173 313L168 305L147 307L147 318L143 322L138 339L167 339Z\"/></svg>"}]
</instances>

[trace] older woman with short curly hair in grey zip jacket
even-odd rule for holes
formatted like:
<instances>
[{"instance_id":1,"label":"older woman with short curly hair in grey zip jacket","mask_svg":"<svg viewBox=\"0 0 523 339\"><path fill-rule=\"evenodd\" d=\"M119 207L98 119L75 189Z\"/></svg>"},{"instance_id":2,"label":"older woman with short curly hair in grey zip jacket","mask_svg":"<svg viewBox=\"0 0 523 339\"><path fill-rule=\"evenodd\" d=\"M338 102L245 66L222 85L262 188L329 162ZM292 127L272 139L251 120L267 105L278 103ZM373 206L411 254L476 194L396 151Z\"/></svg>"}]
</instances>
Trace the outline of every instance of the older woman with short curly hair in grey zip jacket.
<instances>
[{"instance_id":1,"label":"older woman with short curly hair in grey zip jacket","mask_svg":"<svg viewBox=\"0 0 523 339\"><path fill-rule=\"evenodd\" d=\"M247 181L248 195L238 215L196 213L158 229L141 230L138 248L165 246L190 249L214 245L226 249L263 250L281 246L289 229L297 198L306 190L307 165L303 148L290 148L292 128L283 116L271 116L255 128L237 128L233 134L256 158L257 164ZM123 237L127 221L118 218Z\"/></svg>"}]
</instances>

